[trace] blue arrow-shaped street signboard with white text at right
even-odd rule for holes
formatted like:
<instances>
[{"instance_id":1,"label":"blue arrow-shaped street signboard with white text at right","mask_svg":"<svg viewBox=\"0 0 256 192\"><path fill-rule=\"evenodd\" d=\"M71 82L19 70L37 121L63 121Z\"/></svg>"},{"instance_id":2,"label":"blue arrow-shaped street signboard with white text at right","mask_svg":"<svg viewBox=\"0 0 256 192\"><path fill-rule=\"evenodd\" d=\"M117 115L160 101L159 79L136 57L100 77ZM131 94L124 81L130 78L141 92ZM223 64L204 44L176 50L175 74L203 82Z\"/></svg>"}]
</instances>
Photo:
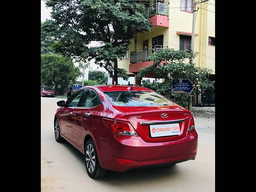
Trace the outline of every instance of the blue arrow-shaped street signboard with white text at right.
<instances>
[{"instance_id":1,"label":"blue arrow-shaped street signboard with white text at right","mask_svg":"<svg viewBox=\"0 0 256 192\"><path fill-rule=\"evenodd\" d=\"M172 95L179 93L191 94L194 85L188 79L173 79L172 80Z\"/></svg>"}]
</instances>

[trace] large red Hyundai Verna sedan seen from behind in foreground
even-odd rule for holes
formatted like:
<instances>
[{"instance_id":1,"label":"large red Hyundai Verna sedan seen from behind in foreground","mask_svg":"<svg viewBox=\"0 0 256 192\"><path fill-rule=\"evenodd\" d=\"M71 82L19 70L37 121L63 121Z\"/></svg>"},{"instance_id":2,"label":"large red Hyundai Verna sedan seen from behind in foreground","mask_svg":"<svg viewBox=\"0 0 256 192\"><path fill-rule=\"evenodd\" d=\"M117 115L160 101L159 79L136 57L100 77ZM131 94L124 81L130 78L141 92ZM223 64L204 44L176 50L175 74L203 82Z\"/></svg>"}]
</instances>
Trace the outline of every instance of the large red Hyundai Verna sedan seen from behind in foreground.
<instances>
[{"instance_id":1,"label":"large red Hyundai Verna sedan seen from behind in foreground","mask_svg":"<svg viewBox=\"0 0 256 192\"><path fill-rule=\"evenodd\" d=\"M84 154L91 178L196 157L190 111L148 88L86 86L57 104L55 139Z\"/></svg>"}]
</instances>

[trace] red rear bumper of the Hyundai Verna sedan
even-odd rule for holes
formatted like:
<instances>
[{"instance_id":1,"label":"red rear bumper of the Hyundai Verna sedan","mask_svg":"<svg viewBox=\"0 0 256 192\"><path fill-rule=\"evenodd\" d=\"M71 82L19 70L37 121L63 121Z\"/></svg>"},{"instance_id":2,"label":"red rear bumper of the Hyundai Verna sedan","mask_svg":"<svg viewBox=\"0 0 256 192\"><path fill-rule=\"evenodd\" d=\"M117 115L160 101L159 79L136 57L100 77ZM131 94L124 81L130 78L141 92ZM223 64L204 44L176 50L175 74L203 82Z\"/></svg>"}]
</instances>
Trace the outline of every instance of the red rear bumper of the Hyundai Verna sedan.
<instances>
[{"instance_id":1,"label":"red rear bumper of the Hyundai Verna sedan","mask_svg":"<svg viewBox=\"0 0 256 192\"><path fill-rule=\"evenodd\" d=\"M113 136L111 141L102 141L100 147L100 165L108 170L125 172L147 166L183 162L196 157L196 130L189 131L182 139L170 142L145 142L139 136ZM114 157L136 162L121 165Z\"/></svg>"}]
</instances>

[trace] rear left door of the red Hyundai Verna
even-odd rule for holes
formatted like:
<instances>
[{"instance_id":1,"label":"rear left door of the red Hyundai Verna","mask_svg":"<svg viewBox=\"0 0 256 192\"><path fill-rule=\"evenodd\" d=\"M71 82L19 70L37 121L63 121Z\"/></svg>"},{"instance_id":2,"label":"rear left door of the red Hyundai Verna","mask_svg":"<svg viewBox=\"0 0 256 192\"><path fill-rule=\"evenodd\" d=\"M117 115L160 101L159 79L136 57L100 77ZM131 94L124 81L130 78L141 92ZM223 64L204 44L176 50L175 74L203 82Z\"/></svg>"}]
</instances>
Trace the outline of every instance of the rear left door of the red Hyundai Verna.
<instances>
[{"instance_id":1,"label":"rear left door of the red Hyundai Verna","mask_svg":"<svg viewBox=\"0 0 256 192\"><path fill-rule=\"evenodd\" d=\"M73 138L76 145L82 147L86 130L90 130L90 132L96 130L99 122L97 114L102 110L101 104L98 94L92 89L86 89L79 102L79 107L76 108L76 124L73 126Z\"/></svg>"}]
</instances>

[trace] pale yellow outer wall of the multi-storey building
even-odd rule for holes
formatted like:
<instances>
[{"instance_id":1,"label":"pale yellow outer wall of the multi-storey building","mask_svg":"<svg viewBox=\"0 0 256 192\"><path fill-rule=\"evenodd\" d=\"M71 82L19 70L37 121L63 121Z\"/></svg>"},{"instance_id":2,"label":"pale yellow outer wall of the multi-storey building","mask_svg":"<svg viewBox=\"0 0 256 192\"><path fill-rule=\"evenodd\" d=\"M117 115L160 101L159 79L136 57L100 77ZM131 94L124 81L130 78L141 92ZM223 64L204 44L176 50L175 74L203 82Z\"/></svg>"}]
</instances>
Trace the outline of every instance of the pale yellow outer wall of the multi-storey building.
<instances>
[{"instance_id":1,"label":"pale yellow outer wall of the multi-storey building","mask_svg":"<svg viewBox=\"0 0 256 192\"><path fill-rule=\"evenodd\" d=\"M208 37L215 37L215 4L214 0L208 1L208 4L201 3L200 9L197 11L195 33L194 51L199 52L194 62L197 66L206 67L213 70L215 74L215 47L208 46ZM142 49L143 40L149 40L148 46L152 46L152 38L157 35L164 34L164 46L169 48L179 49L180 35L177 31L192 33L192 18L193 14L183 12L180 10L180 1L170 1L169 4L169 28L155 26L152 32L137 33L137 44L134 45L134 39L129 42L129 54L127 60L118 62L118 67L129 70L130 51ZM179 7L179 8L176 8ZM204 9L201 9L204 8ZM210 11L207 11L210 10ZM186 61L188 62L188 60Z\"/></svg>"}]
</instances>

